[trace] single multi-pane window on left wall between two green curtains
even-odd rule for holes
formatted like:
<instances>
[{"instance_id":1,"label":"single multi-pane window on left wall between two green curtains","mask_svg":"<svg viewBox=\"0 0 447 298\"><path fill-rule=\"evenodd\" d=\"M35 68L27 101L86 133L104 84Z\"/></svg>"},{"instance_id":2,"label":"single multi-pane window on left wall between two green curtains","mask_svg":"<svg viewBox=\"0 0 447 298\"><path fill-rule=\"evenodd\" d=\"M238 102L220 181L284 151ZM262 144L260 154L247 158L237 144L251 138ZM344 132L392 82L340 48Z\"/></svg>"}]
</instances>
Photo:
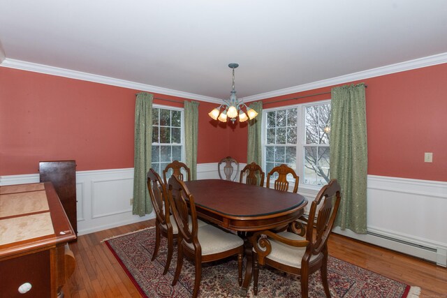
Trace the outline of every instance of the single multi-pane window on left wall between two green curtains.
<instances>
[{"instance_id":1,"label":"single multi-pane window on left wall between two green curtains","mask_svg":"<svg viewBox=\"0 0 447 298\"><path fill-rule=\"evenodd\" d=\"M183 110L152 107L152 167L161 174L168 163L183 161Z\"/></svg>"}]
</instances>

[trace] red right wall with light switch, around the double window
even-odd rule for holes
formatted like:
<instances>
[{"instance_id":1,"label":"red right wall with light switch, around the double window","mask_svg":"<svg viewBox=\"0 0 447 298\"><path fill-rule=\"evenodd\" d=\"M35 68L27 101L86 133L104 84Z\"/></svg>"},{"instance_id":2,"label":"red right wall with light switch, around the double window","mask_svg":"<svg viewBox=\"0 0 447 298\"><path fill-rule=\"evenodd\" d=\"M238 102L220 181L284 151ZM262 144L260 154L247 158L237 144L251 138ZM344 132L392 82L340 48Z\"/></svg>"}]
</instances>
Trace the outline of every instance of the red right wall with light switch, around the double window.
<instances>
[{"instance_id":1,"label":"red right wall with light switch, around the double window","mask_svg":"<svg viewBox=\"0 0 447 298\"><path fill-rule=\"evenodd\" d=\"M447 64L351 83L358 82L367 84L368 174L447 181ZM263 108L330 99L323 94L268 104L331 88L268 98ZM433 163L424 162L424 152L433 153Z\"/></svg>"}]
</instances>

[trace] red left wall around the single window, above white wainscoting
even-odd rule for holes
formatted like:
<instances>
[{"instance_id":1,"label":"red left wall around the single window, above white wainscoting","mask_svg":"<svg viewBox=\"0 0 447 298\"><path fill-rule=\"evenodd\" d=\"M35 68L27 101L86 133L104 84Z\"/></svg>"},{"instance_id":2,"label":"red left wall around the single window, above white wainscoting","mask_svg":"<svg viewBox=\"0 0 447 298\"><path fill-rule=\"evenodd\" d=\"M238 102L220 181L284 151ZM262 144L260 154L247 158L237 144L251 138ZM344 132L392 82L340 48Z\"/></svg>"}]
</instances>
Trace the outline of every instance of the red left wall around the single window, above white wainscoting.
<instances>
[{"instance_id":1,"label":"red left wall around the single window, above white wainscoting","mask_svg":"<svg viewBox=\"0 0 447 298\"><path fill-rule=\"evenodd\" d=\"M77 170L133 167L137 90L0 67L0 175L38 172L38 162L75 159ZM154 94L182 107L184 98ZM198 163L227 156L226 126L200 102Z\"/></svg>"}]
</instances>

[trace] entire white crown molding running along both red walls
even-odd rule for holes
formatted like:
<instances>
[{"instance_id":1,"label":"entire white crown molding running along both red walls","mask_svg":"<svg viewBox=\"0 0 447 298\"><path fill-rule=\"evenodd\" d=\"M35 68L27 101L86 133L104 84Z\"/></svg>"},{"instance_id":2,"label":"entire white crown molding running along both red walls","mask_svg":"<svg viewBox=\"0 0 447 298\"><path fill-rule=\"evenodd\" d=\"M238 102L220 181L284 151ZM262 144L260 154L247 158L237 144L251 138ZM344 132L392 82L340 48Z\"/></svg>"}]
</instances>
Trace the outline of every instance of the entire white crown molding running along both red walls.
<instances>
[{"instance_id":1,"label":"entire white crown molding running along both red walls","mask_svg":"<svg viewBox=\"0 0 447 298\"><path fill-rule=\"evenodd\" d=\"M3 61L2 61L3 57ZM181 98L189 98L193 100L201 100L208 103L221 103L220 98L213 98L209 96L201 96L198 94L191 94L183 91L177 91L173 89L166 89L163 87L156 87L148 84L141 84L136 82L130 82L125 80L119 80L112 77L104 77L102 75L93 75L91 73L82 73L76 70L68 70L64 68L57 68L52 66L45 66L43 64L34 64L31 62L20 61L15 59L4 58L5 54L0 44L0 66L8 68L17 68L22 70L29 70L36 73L45 73L48 75L57 75L60 77L69 77L75 80L85 80L89 82L96 82L100 84L108 84L117 87L124 87L129 89L136 89L141 91L154 92L156 94L166 94L169 96L177 96ZM423 57L419 59L400 62L398 64L391 64L388 66L382 66L379 68L372 68L369 70L359 71L358 73L351 73L349 75L341 75L339 77L332 77L327 80L321 80L312 82L309 84L302 84L295 87L288 87L285 89L279 89L276 91L265 92L263 94L256 94L253 96L247 96L240 98L245 103L263 100L265 98L272 98L275 96L283 96L286 94L294 94L302 91L308 91L318 89L322 87L334 86L337 84L343 84L346 82L353 82L357 80L365 80L369 77L379 77L381 75L389 75L391 73L400 73L406 70L412 70L416 68L423 68L427 66L434 66L437 64L447 63L447 52L442 54L436 54L433 56Z\"/></svg>"}]
</instances>

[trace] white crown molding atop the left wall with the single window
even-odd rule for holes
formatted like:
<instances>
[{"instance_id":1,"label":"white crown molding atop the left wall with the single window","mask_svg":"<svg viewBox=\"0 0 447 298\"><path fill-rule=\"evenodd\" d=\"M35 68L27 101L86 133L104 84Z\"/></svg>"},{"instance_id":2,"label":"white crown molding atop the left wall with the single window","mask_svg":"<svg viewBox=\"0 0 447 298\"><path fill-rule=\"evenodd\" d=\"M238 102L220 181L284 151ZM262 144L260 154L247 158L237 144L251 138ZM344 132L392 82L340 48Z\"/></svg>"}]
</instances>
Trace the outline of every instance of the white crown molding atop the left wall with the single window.
<instances>
[{"instance_id":1,"label":"white crown molding atop the left wall with the single window","mask_svg":"<svg viewBox=\"0 0 447 298\"><path fill-rule=\"evenodd\" d=\"M91 73L82 73L76 70L69 70L65 68L57 68L53 66L46 66L43 64L35 64L26 61L20 61L15 59L4 59L1 62L1 48L0 48L0 66L8 67L8 68L16 68L21 70L28 70L34 73L45 73L47 75L57 75L59 77L68 77L75 80L83 80L89 82L95 82L100 84L108 84L117 87L124 87L129 89L136 89L140 91L153 92L156 94L165 94L170 96L177 96L181 98L189 98L193 100L201 100L208 103L221 103L221 99L212 98L209 96L202 96L199 94L191 94L188 92L177 91L173 89L167 89L163 87L156 87L148 84L141 84L137 82L130 82L126 80L119 80L113 77L104 77L102 75L94 75Z\"/></svg>"}]
</instances>

